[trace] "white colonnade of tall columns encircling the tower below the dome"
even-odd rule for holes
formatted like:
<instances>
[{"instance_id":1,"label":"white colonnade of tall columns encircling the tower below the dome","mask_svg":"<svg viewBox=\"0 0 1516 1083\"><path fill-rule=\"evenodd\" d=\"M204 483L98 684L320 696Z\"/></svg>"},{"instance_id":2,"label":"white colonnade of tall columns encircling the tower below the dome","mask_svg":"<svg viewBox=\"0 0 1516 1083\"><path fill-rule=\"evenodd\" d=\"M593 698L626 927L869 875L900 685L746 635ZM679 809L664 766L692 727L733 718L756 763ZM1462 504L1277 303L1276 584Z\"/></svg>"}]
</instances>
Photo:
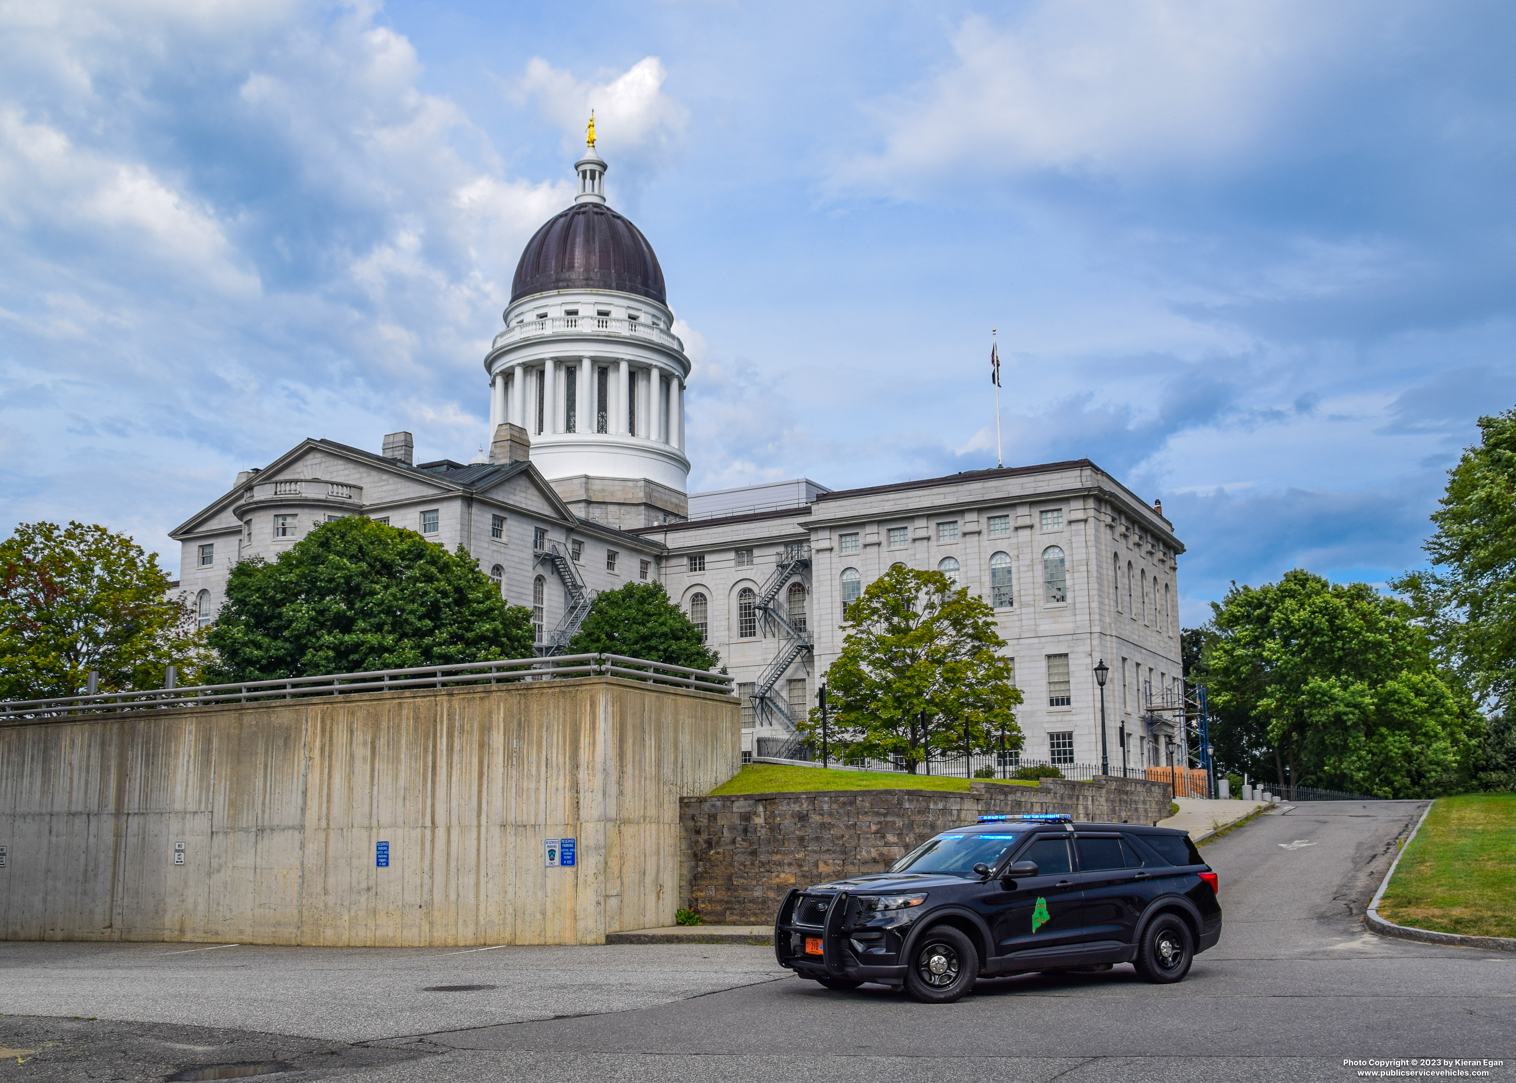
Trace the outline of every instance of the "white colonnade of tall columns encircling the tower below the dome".
<instances>
[{"instance_id":1,"label":"white colonnade of tall columns encircling the tower below the dome","mask_svg":"<svg viewBox=\"0 0 1516 1083\"><path fill-rule=\"evenodd\" d=\"M565 400L575 370L573 428ZM547 358L502 369L490 384L490 431L509 422L531 435L599 432L599 370L606 369L606 435L634 435L684 450L684 381L625 358Z\"/></svg>"}]
</instances>

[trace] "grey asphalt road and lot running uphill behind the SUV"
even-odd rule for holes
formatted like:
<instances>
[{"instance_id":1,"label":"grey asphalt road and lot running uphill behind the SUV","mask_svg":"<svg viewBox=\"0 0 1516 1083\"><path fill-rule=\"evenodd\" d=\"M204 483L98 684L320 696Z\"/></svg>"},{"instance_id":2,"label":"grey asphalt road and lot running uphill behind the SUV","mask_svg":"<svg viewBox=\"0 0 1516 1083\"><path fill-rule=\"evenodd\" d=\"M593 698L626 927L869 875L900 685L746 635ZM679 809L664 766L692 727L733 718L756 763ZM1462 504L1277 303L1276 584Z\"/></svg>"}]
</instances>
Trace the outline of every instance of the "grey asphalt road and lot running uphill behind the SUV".
<instances>
[{"instance_id":1,"label":"grey asphalt road and lot running uphill behind the SUV","mask_svg":"<svg viewBox=\"0 0 1516 1083\"><path fill-rule=\"evenodd\" d=\"M1225 931L1176 986L1117 966L982 981L923 1006L825 990L767 948L725 945L5 943L0 1042L38 1054L0 1060L0 1080L285 1060L305 1071L268 1078L1293 1081L1357 1078L1345 1059L1390 1057L1501 1059L1483 1078L1516 1080L1516 954L1363 928L1422 807L1301 804L1205 846ZM488 987L429 992L446 984ZM58 1018L74 1015L96 1019Z\"/></svg>"}]
</instances>

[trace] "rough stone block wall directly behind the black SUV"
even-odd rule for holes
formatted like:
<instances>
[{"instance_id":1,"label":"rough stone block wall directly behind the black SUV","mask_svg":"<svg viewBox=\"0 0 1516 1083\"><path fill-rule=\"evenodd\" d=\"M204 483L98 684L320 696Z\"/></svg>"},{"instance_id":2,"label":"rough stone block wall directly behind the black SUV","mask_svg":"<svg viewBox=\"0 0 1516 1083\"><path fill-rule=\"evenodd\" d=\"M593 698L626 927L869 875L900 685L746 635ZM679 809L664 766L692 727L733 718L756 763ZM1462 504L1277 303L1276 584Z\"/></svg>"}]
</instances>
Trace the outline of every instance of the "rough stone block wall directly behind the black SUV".
<instances>
[{"instance_id":1,"label":"rough stone block wall directly behind the black SUV","mask_svg":"<svg viewBox=\"0 0 1516 1083\"><path fill-rule=\"evenodd\" d=\"M941 790L831 790L681 798L681 906L708 924L773 921L791 887L884 872L949 827L993 813L1067 813L1101 824L1157 824L1167 783L1045 778L1038 786Z\"/></svg>"}]
</instances>

